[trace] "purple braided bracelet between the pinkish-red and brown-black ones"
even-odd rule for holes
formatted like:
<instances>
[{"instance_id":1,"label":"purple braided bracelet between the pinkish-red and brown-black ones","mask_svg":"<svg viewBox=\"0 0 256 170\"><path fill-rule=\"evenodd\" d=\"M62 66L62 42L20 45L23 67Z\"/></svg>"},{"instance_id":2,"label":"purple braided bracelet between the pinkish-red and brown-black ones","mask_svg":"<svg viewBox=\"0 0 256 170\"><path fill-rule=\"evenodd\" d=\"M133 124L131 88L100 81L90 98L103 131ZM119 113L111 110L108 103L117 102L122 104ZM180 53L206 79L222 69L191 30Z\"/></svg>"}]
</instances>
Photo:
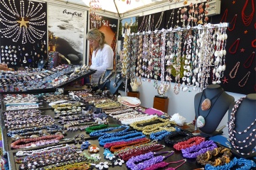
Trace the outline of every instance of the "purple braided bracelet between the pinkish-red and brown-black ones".
<instances>
[{"instance_id":1,"label":"purple braided bracelet between the pinkish-red and brown-black ones","mask_svg":"<svg viewBox=\"0 0 256 170\"><path fill-rule=\"evenodd\" d=\"M192 147L181 149L181 152L183 157L196 158L199 154L203 154L208 150L213 150L216 147L217 145L213 142L213 140L206 140L201 142L199 145L193 145Z\"/></svg>"}]
</instances>

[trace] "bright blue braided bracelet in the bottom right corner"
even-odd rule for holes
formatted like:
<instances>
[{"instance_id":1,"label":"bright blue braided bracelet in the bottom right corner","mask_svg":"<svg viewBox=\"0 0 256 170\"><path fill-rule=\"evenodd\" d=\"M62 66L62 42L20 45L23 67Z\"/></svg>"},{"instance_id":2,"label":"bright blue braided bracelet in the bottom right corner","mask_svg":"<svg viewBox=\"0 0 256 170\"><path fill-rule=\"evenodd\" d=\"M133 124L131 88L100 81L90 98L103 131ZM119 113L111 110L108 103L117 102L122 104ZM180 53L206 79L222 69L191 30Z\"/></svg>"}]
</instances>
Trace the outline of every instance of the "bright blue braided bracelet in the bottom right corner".
<instances>
[{"instance_id":1,"label":"bright blue braided bracelet in the bottom right corner","mask_svg":"<svg viewBox=\"0 0 256 170\"><path fill-rule=\"evenodd\" d=\"M236 170L250 170L252 167L255 168L256 164L254 161L249 159L240 158L237 159L236 157L232 159L228 164L222 166L212 166L210 164L206 164L206 170L227 170L231 169L233 166L238 165L240 166Z\"/></svg>"}]
</instances>

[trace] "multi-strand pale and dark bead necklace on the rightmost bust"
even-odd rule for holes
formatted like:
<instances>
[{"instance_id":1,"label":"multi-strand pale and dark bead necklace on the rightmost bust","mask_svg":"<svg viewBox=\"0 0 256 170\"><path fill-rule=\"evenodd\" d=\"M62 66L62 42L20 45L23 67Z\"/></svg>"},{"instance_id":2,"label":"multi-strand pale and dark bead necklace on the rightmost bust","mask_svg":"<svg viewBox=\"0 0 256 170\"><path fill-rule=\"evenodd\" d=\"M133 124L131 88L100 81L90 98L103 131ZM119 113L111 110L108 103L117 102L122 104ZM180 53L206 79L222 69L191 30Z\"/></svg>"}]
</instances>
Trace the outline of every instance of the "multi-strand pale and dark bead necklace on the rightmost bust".
<instances>
[{"instance_id":1,"label":"multi-strand pale and dark bead necklace on the rightmost bust","mask_svg":"<svg viewBox=\"0 0 256 170\"><path fill-rule=\"evenodd\" d=\"M228 122L228 136L229 136L229 140L231 145L233 145L233 147L235 149L237 149L236 151L238 153L240 153L240 151L238 150L238 148L242 149L243 147L238 147L237 145L235 145L235 141L237 141L238 143L242 144L245 142L248 142L248 145L245 145L244 147L248 147L250 145L252 145L252 143L255 141L255 137L253 136L253 133L256 131L256 129L253 129L252 132L250 133L249 136L246 137L245 140L237 140L235 137L236 135L241 135L243 133L246 133L248 130L250 130L250 128L252 128L253 125L255 125L256 123L256 119L250 124L250 126L248 126L245 130L242 130L240 132L238 132L237 130L235 130L235 113L238 111L238 108L240 106L240 104L242 103L242 101L245 99L245 97L239 98L238 101L235 102L235 105L233 106L232 112L230 113L230 121ZM249 138L252 137L252 140L249 142ZM253 150L251 153L254 153L255 151ZM250 152L247 154L251 154ZM245 153L240 153L242 155L244 155Z\"/></svg>"}]
</instances>

